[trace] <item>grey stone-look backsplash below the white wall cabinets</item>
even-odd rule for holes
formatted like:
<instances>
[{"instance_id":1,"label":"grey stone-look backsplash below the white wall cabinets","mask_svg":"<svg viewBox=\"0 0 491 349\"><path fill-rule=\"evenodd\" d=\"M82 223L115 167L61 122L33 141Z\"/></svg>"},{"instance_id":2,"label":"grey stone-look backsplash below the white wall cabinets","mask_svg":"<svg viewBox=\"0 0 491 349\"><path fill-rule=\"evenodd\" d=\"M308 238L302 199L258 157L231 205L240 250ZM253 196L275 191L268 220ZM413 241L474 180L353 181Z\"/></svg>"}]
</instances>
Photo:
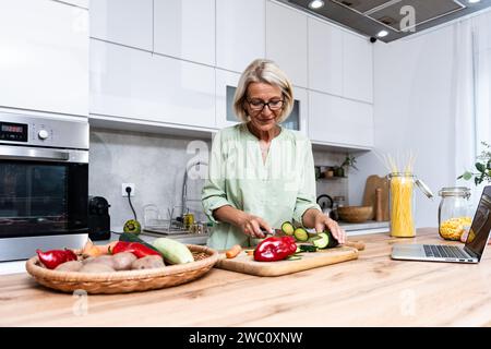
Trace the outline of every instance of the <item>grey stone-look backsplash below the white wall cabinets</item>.
<instances>
[{"instance_id":1,"label":"grey stone-look backsplash below the white wall cabinets","mask_svg":"<svg viewBox=\"0 0 491 349\"><path fill-rule=\"evenodd\" d=\"M180 214L182 183L185 168L194 163L196 148L206 149L211 140L175 137L170 135L95 129L91 130L89 195L104 196L111 207L111 228L120 229L133 217L128 197L121 193L122 183L134 183L131 197L140 221L143 222L145 205L156 205L163 218L175 208ZM343 154L314 152L315 165L337 165ZM188 178L188 206L196 220L205 220L201 202L203 178L207 167L195 167ZM318 195L343 195L348 200L348 179L318 181Z\"/></svg>"}]
</instances>

